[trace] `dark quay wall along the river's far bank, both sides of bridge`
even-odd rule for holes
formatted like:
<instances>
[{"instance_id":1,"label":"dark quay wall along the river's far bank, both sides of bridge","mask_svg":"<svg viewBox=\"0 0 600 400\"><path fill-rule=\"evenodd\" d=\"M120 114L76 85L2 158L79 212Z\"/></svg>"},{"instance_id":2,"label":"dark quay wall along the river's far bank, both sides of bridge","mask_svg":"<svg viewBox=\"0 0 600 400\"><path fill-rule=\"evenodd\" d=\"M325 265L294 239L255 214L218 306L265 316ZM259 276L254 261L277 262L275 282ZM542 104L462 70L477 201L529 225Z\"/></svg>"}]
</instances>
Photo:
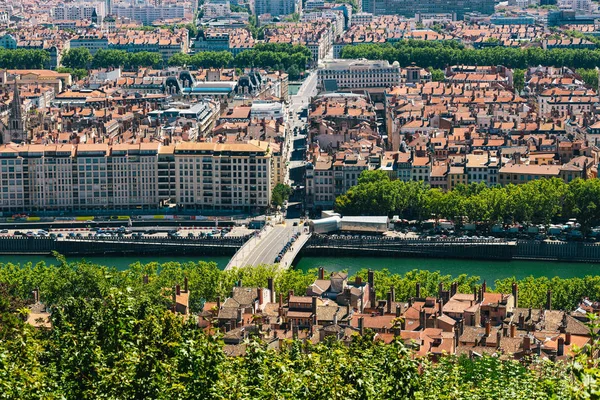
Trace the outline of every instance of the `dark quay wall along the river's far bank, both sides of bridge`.
<instances>
[{"instance_id":1,"label":"dark quay wall along the river's far bank, both sides of bridge","mask_svg":"<svg viewBox=\"0 0 600 400\"><path fill-rule=\"evenodd\" d=\"M0 255L215 255L233 256L250 238L169 239L131 238L51 239L0 237ZM600 243L542 242L530 240L422 240L385 237L313 236L299 252L302 256L424 257L480 260L547 260L600 263Z\"/></svg>"}]
</instances>

